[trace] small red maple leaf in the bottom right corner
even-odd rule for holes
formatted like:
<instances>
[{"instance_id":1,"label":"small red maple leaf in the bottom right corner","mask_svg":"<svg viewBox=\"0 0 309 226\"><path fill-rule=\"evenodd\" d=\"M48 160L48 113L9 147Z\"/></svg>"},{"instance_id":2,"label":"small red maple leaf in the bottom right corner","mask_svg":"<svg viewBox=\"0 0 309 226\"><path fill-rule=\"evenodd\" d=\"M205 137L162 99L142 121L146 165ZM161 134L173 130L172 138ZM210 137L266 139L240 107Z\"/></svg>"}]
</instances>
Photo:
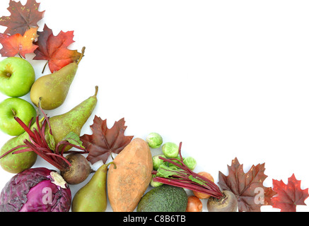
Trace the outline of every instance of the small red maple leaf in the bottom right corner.
<instances>
[{"instance_id":1,"label":"small red maple leaf in the bottom right corner","mask_svg":"<svg viewBox=\"0 0 309 226\"><path fill-rule=\"evenodd\" d=\"M276 179L273 179L272 183L278 194L272 197L274 208L281 209L281 212L296 212L297 205L305 205L305 199L309 196L308 189L301 189L301 181L298 181L294 174L288 178L288 184Z\"/></svg>"}]
</instances>

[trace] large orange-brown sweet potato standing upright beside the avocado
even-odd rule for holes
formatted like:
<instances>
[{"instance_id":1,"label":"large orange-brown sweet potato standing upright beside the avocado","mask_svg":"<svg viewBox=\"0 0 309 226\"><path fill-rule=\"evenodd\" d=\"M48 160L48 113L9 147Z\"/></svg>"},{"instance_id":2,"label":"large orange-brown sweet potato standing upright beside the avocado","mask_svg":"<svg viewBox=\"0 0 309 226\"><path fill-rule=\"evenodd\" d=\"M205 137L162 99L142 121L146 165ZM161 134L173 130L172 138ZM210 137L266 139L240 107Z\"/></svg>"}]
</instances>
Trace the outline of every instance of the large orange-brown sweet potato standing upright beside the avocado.
<instances>
[{"instance_id":1,"label":"large orange-brown sweet potato standing upright beside the avocado","mask_svg":"<svg viewBox=\"0 0 309 226\"><path fill-rule=\"evenodd\" d=\"M132 212L151 181L151 150L141 138L132 140L107 173L107 195L114 212Z\"/></svg>"}]
</instances>

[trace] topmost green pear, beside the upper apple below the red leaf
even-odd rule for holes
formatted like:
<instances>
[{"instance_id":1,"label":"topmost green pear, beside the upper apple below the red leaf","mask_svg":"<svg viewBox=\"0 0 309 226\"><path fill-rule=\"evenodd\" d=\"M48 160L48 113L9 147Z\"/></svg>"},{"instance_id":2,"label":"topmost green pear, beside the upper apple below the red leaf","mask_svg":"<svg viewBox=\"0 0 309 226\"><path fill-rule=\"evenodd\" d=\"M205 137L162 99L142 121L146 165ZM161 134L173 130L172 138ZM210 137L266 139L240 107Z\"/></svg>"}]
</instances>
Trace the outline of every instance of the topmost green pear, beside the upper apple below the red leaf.
<instances>
[{"instance_id":1,"label":"topmost green pear, beside the upper apple below the red leaf","mask_svg":"<svg viewBox=\"0 0 309 226\"><path fill-rule=\"evenodd\" d=\"M64 103L84 52L85 47L77 62L74 61L59 71L37 78L30 90L30 99L35 106L40 98L40 105L46 110L55 109Z\"/></svg>"}]
</instances>

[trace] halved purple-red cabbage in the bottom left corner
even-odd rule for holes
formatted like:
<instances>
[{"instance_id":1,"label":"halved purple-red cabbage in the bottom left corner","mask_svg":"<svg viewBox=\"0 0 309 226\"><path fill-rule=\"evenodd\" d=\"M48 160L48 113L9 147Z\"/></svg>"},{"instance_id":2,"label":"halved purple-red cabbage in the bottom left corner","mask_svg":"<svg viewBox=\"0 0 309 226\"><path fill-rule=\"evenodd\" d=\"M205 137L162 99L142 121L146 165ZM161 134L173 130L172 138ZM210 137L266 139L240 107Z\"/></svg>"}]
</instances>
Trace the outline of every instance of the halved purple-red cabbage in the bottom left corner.
<instances>
[{"instance_id":1,"label":"halved purple-red cabbage in the bottom left corner","mask_svg":"<svg viewBox=\"0 0 309 226\"><path fill-rule=\"evenodd\" d=\"M6 183L0 194L1 212L68 212L71 190L54 170L26 169Z\"/></svg>"}]
</instances>

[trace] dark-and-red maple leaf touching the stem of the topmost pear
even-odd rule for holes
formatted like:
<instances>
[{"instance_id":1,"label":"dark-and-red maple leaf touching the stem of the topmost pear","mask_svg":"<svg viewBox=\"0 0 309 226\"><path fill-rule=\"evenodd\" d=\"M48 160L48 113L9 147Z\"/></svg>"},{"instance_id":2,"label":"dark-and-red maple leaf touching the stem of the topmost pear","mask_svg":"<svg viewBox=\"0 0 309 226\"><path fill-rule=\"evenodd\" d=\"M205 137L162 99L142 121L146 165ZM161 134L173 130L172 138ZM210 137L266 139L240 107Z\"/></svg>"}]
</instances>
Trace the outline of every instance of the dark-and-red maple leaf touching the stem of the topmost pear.
<instances>
[{"instance_id":1,"label":"dark-and-red maple leaf touching the stem of the topmost pear","mask_svg":"<svg viewBox=\"0 0 309 226\"><path fill-rule=\"evenodd\" d=\"M52 34L52 30L45 24L39 35L37 42L38 48L35 49L35 57L33 59L47 60L49 70L53 73L59 71L62 67L74 61L78 61L81 53L77 50L68 49L69 45L74 42L74 31L60 31L57 36Z\"/></svg>"}]
</instances>

